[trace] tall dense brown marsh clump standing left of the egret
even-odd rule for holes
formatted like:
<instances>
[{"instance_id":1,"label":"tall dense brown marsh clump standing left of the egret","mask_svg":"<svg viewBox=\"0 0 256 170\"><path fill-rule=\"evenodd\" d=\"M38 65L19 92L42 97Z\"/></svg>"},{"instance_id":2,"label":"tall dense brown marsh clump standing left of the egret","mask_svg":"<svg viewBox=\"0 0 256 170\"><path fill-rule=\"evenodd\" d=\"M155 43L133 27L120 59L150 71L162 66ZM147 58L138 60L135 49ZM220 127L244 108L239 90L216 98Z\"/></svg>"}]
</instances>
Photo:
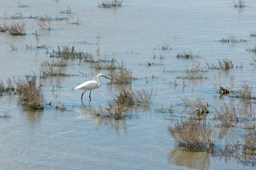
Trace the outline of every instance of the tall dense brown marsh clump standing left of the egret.
<instances>
[{"instance_id":1,"label":"tall dense brown marsh clump standing left of the egret","mask_svg":"<svg viewBox=\"0 0 256 170\"><path fill-rule=\"evenodd\" d=\"M44 108L44 85L42 80L37 84L35 73L26 75L25 79L18 77L16 87L17 92L21 94L21 100L24 100L25 105L28 105L31 109L43 109Z\"/></svg>"}]
</instances>

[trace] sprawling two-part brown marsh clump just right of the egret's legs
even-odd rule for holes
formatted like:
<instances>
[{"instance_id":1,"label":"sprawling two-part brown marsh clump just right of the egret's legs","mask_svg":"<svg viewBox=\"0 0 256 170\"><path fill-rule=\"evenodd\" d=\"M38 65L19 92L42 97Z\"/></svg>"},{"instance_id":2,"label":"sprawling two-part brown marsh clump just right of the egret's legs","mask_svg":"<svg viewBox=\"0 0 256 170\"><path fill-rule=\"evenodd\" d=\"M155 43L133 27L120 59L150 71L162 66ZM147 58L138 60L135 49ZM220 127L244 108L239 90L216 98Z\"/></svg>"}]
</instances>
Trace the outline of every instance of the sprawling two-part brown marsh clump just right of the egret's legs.
<instances>
[{"instance_id":1,"label":"sprawling two-part brown marsh clump just right of the egret's legs","mask_svg":"<svg viewBox=\"0 0 256 170\"><path fill-rule=\"evenodd\" d=\"M152 90L133 90L129 87L127 90L119 88L119 92L115 95L114 101L107 101L107 106L102 107L98 104L98 110L95 111L96 116L122 119L132 117L131 112L127 112L127 108L133 105L146 105L153 100Z\"/></svg>"}]
</instances>

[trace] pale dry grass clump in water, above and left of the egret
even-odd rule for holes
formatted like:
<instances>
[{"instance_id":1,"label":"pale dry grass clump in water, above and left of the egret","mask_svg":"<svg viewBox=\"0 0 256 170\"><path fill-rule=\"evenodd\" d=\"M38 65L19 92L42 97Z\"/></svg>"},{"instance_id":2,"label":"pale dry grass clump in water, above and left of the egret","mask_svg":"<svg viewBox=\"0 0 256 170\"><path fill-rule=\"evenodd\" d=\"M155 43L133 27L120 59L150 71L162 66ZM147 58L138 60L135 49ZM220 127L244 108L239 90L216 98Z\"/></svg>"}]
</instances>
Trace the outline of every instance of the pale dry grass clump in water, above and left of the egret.
<instances>
[{"instance_id":1,"label":"pale dry grass clump in water, above and left of the egret","mask_svg":"<svg viewBox=\"0 0 256 170\"><path fill-rule=\"evenodd\" d=\"M67 62L64 59L49 62L44 60L39 70L40 78L48 76L66 76L67 75Z\"/></svg>"}]
</instances>

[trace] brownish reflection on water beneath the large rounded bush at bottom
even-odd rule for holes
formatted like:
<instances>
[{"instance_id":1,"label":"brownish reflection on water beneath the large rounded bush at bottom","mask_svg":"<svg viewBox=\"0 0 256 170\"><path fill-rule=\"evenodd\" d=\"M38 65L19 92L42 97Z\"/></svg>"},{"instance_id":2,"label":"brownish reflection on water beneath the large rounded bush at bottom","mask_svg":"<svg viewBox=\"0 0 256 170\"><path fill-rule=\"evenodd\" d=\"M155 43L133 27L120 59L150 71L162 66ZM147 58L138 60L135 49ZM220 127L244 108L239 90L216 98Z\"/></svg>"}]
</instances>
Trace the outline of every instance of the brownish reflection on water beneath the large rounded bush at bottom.
<instances>
[{"instance_id":1,"label":"brownish reflection on water beneath the large rounded bush at bottom","mask_svg":"<svg viewBox=\"0 0 256 170\"><path fill-rule=\"evenodd\" d=\"M206 152L189 152L179 146L168 153L168 163L188 168L209 169L210 156Z\"/></svg>"}]
</instances>

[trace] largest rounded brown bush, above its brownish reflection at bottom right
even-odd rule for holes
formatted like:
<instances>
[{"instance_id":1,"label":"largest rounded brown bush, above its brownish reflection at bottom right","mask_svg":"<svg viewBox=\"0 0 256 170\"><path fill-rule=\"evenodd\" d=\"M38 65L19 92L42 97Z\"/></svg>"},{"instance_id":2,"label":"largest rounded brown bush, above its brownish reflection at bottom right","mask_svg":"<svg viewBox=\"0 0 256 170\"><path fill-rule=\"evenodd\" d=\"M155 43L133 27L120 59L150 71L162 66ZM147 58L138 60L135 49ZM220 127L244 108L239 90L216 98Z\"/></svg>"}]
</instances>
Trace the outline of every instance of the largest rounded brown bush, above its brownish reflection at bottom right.
<instances>
[{"instance_id":1,"label":"largest rounded brown bush, above its brownish reflection at bottom right","mask_svg":"<svg viewBox=\"0 0 256 170\"><path fill-rule=\"evenodd\" d=\"M168 127L169 134L181 147L191 151L207 150L209 143L214 142L214 133L209 122L205 119L196 121L193 119L185 122L176 122L174 127Z\"/></svg>"}]
</instances>

